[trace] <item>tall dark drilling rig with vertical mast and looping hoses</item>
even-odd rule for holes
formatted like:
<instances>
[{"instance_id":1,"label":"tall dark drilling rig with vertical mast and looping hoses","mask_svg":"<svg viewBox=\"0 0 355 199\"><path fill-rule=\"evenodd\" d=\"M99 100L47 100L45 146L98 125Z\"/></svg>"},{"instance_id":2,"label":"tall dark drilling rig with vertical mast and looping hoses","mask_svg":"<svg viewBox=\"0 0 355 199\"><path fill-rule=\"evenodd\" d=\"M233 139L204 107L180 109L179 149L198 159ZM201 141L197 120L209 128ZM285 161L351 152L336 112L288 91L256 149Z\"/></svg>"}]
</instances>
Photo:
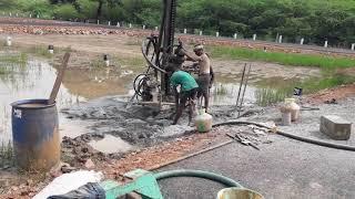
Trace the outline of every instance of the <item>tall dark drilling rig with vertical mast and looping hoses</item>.
<instances>
[{"instance_id":1,"label":"tall dark drilling rig with vertical mast and looping hoses","mask_svg":"<svg viewBox=\"0 0 355 199\"><path fill-rule=\"evenodd\" d=\"M133 81L134 95L130 102L141 105L172 104L169 75L170 65L181 67L184 62L182 42L174 44L176 0L162 0L163 13L158 35L151 34L142 43L142 54L148 63L144 73Z\"/></svg>"}]
</instances>

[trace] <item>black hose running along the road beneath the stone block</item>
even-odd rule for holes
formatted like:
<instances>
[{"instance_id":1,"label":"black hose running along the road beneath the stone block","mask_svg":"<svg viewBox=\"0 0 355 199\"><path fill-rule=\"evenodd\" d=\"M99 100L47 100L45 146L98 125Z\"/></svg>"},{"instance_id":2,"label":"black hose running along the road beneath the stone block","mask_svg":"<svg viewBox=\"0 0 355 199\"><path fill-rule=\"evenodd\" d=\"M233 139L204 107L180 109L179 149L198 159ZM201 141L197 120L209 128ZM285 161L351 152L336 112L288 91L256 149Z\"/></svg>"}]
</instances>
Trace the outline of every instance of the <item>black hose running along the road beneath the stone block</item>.
<instances>
[{"instance_id":1,"label":"black hose running along the road beneath the stone block","mask_svg":"<svg viewBox=\"0 0 355 199\"><path fill-rule=\"evenodd\" d=\"M213 127L226 126L226 125L255 125L258 127L271 129L268 126L265 126L265 125L262 125L258 123L242 122L242 121L231 121L231 122L225 122L225 123L219 123L219 124L214 124ZM282 130L276 130L276 133L278 135L282 135L282 136L285 136L285 137L288 137L292 139L296 139L300 142L304 142L304 143L311 143L311 144L315 144L315 145L320 145L320 146L324 146L324 147L328 147L328 148L336 148L336 149L342 149L342 150L355 151L355 147L348 146L348 145L338 145L338 144L334 144L334 143L322 142L322 140L312 139L308 137L302 137L302 136L288 134L288 133L282 132Z\"/></svg>"}]
</instances>

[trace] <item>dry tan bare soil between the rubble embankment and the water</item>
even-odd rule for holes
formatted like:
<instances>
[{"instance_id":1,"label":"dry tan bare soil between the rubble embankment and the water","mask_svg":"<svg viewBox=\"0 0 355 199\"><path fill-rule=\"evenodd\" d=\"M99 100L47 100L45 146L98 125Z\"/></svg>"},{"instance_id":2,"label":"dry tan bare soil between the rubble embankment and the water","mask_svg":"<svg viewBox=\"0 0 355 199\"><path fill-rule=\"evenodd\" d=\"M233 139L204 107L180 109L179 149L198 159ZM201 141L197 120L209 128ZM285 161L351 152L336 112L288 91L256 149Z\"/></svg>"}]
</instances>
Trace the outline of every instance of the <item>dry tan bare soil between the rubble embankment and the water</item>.
<instances>
[{"instance_id":1,"label":"dry tan bare soil between the rubble embankment and the water","mask_svg":"<svg viewBox=\"0 0 355 199\"><path fill-rule=\"evenodd\" d=\"M142 59L141 41L143 39L132 38L128 35L14 35L14 43L20 45L49 45L53 44L58 48L68 48L77 51L73 53L75 60L71 60L70 64L79 67L88 65L90 60L98 55L109 54L119 57L138 57ZM290 67L275 63L251 62L239 60L212 60L214 71L216 73L237 76L244 63L252 64L251 78L303 78L306 76L318 76L320 70L316 67Z\"/></svg>"}]
</instances>

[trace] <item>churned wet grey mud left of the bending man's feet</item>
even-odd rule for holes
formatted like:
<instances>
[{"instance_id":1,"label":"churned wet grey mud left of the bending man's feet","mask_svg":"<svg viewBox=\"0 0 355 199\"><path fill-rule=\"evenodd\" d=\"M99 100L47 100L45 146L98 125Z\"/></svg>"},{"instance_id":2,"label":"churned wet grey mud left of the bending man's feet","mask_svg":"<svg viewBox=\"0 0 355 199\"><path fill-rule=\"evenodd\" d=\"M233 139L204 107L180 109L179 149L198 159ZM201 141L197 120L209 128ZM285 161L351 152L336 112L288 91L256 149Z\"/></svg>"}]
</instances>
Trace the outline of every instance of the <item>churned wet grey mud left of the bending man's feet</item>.
<instances>
[{"instance_id":1,"label":"churned wet grey mud left of the bending man's feet","mask_svg":"<svg viewBox=\"0 0 355 199\"><path fill-rule=\"evenodd\" d=\"M164 127L171 125L169 119L172 109L159 112L158 107L132 105L126 107L124 98L104 97L88 102L70 109L63 109L62 113L71 118L91 121L92 130L89 135L104 136L106 134L122 138L123 140L138 146L145 147L160 143L166 136L163 136ZM184 124L185 119L181 119ZM179 136L191 129L191 127L180 126L180 132L171 134L171 137ZM88 134L87 134L88 135Z\"/></svg>"}]
</instances>

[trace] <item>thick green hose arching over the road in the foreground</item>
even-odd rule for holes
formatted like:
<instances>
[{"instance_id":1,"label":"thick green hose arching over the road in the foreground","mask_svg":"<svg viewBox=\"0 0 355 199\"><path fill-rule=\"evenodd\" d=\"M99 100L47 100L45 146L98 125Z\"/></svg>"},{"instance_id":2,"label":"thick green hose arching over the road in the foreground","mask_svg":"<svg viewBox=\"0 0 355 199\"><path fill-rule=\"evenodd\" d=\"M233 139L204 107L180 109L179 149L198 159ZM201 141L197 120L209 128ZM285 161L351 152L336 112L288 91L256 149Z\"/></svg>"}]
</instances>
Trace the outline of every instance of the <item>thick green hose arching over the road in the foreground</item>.
<instances>
[{"instance_id":1,"label":"thick green hose arching over the road in the foreground","mask_svg":"<svg viewBox=\"0 0 355 199\"><path fill-rule=\"evenodd\" d=\"M169 171L156 172L154 174L154 177L156 180L174 178L174 177L195 177L195 178L204 178L212 181L216 181L226 187L239 187L239 188L243 187L231 178L216 175L214 172L202 171L202 170L190 170L190 169L169 170Z\"/></svg>"}]
</instances>

